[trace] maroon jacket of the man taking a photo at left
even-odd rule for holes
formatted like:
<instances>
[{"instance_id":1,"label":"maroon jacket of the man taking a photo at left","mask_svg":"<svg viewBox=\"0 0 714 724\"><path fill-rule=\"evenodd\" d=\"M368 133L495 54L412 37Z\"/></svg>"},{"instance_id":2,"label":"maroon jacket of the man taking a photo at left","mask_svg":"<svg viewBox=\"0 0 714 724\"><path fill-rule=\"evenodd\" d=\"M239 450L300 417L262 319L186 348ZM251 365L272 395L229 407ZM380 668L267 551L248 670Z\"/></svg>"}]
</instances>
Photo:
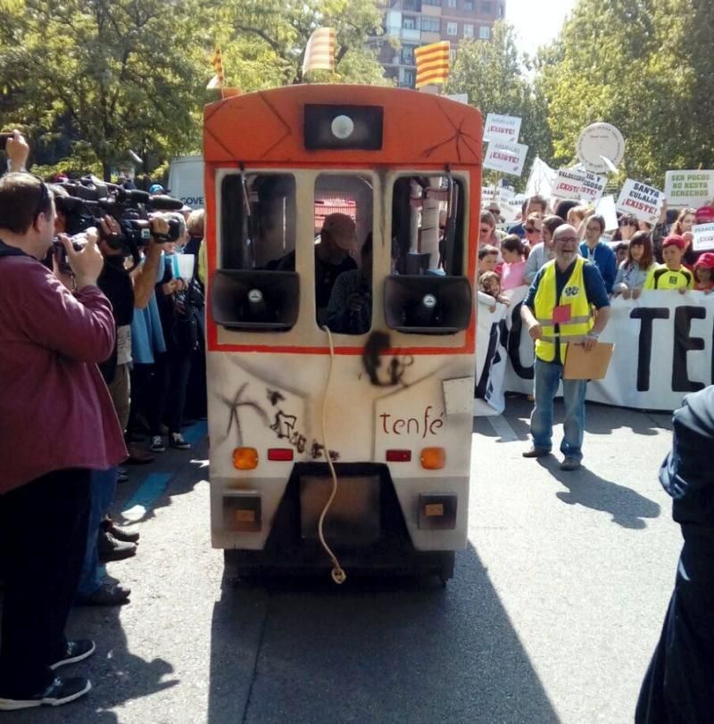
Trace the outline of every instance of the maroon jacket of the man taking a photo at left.
<instances>
[{"instance_id":1,"label":"maroon jacket of the man taking a photo at left","mask_svg":"<svg viewBox=\"0 0 714 724\"><path fill-rule=\"evenodd\" d=\"M112 305L98 287L72 295L27 255L0 259L0 494L72 467L127 457L96 366L112 354Z\"/></svg>"}]
</instances>

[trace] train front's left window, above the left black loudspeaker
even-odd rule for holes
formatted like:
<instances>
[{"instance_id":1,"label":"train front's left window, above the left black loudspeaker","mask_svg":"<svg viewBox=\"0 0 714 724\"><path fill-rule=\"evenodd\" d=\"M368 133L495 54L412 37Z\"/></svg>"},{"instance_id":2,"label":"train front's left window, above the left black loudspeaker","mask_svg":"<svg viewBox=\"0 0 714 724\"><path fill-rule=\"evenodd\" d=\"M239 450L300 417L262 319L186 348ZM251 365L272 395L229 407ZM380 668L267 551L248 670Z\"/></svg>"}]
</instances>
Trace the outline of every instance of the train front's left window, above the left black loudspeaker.
<instances>
[{"instance_id":1,"label":"train front's left window, above the left black loudspeaker","mask_svg":"<svg viewBox=\"0 0 714 724\"><path fill-rule=\"evenodd\" d=\"M295 270L294 177L227 176L221 210L221 267Z\"/></svg>"}]
</instances>

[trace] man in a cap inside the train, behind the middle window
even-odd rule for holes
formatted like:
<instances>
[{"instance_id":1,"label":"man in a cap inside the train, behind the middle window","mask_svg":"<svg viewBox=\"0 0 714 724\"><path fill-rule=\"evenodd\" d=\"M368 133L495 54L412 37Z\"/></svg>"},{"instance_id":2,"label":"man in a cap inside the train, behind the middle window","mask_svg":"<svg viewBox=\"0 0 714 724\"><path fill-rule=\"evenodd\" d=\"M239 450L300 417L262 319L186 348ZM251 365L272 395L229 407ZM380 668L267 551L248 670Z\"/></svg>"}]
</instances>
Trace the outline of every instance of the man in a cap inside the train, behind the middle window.
<instances>
[{"instance_id":1,"label":"man in a cap inside the train, behind the middle window","mask_svg":"<svg viewBox=\"0 0 714 724\"><path fill-rule=\"evenodd\" d=\"M315 306L318 324L327 322L328 304L337 276L357 268L350 256L355 249L355 225L346 214L329 214L320 231L320 243L315 244ZM280 259L278 269L295 269L295 251Z\"/></svg>"}]
</instances>

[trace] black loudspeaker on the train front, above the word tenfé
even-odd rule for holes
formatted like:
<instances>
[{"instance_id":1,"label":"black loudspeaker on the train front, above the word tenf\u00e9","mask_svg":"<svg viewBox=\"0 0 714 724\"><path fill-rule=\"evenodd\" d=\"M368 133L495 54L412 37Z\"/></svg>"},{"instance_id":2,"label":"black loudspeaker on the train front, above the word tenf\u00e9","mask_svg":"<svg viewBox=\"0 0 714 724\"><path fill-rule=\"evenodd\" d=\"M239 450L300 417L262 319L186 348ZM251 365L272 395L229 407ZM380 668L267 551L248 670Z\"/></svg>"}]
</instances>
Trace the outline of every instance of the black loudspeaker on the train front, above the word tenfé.
<instances>
[{"instance_id":1,"label":"black loudspeaker on the train front, above the word tenf\u00e9","mask_svg":"<svg viewBox=\"0 0 714 724\"><path fill-rule=\"evenodd\" d=\"M473 297L465 276L387 276L385 319L411 334L453 334L471 321Z\"/></svg>"}]
</instances>

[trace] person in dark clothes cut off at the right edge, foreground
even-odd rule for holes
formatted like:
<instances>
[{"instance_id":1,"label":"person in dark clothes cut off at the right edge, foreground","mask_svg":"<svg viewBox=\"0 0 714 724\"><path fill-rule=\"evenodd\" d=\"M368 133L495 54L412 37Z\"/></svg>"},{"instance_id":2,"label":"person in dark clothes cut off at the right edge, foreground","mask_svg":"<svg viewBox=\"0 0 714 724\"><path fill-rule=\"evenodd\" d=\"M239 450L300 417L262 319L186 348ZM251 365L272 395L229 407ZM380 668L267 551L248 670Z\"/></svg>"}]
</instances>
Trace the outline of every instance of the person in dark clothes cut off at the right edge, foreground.
<instances>
[{"instance_id":1,"label":"person in dark clothes cut off at the right edge, foreground","mask_svg":"<svg viewBox=\"0 0 714 724\"><path fill-rule=\"evenodd\" d=\"M673 417L660 483L674 498L684 546L635 724L711 721L714 697L714 386L685 397Z\"/></svg>"}]
</instances>

